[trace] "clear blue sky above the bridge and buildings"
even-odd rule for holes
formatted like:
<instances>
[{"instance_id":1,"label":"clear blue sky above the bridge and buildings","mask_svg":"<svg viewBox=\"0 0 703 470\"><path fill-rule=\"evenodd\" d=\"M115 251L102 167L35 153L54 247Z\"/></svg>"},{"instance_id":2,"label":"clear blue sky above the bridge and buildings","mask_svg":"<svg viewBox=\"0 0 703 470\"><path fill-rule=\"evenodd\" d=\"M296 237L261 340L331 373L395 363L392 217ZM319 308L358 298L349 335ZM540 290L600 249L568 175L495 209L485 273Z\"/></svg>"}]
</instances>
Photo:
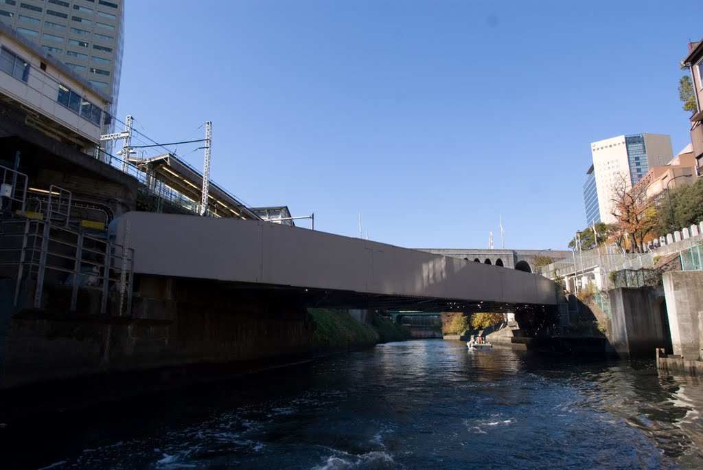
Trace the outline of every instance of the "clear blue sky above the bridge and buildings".
<instances>
[{"instance_id":1,"label":"clear blue sky above the bridge and buildings","mask_svg":"<svg viewBox=\"0 0 703 470\"><path fill-rule=\"evenodd\" d=\"M335 234L362 212L375 241L500 248L502 215L506 248L561 248L591 141L690 141L695 1L126 3L117 117L159 142L211 120L214 180Z\"/></svg>"}]
</instances>

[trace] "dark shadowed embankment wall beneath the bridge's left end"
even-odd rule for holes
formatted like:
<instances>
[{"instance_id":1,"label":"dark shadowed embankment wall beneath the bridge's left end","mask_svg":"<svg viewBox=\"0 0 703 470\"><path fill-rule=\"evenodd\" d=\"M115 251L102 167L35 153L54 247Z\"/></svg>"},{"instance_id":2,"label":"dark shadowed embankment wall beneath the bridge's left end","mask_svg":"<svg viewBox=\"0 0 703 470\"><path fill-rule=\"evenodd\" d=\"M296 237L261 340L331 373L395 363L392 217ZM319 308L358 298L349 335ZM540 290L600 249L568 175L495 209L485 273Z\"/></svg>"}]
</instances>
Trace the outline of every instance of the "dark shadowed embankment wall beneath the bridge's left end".
<instances>
[{"instance_id":1,"label":"dark shadowed embankment wall beneath the bridge's left end","mask_svg":"<svg viewBox=\"0 0 703 470\"><path fill-rule=\"evenodd\" d=\"M186 279L143 277L139 286L131 317L94 315L97 293L82 293L83 311L52 309L52 296L65 293L49 292L46 310L0 319L0 389L191 364L297 362L404 338L388 320L368 326L283 294Z\"/></svg>"}]
</instances>

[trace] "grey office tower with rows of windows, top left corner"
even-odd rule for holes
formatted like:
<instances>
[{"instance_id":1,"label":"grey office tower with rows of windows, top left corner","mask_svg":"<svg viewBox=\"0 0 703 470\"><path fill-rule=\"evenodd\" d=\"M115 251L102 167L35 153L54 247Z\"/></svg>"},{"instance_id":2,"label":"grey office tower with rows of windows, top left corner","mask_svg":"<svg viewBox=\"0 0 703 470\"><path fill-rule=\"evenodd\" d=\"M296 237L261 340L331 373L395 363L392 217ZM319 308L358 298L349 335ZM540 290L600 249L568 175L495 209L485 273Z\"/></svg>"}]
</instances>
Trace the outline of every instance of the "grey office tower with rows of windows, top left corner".
<instances>
[{"instance_id":1,"label":"grey office tower with rows of windows, top left corner","mask_svg":"<svg viewBox=\"0 0 703 470\"><path fill-rule=\"evenodd\" d=\"M0 21L111 96L115 115L124 0L0 0Z\"/></svg>"}]
</instances>

